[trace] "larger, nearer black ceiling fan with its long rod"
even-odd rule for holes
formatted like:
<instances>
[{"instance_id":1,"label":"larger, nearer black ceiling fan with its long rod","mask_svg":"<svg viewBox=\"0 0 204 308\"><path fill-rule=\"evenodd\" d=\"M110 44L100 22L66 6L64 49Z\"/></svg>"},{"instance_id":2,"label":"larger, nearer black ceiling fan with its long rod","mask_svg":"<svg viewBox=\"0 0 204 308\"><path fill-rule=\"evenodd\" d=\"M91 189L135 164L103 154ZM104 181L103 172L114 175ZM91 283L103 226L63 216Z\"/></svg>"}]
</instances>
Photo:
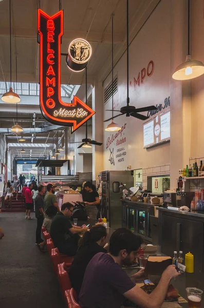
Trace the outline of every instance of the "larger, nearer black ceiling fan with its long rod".
<instances>
[{"instance_id":1,"label":"larger, nearer black ceiling fan with its long rod","mask_svg":"<svg viewBox=\"0 0 204 308\"><path fill-rule=\"evenodd\" d=\"M117 111L120 114L115 115L115 117L109 118L103 122L107 122L109 120L113 120L114 118L120 117L120 115L126 114L126 117L134 117L140 120L147 120L149 117L146 115L140 114L138 112L156 110L155 106L147 106L136 108L135 106L129 106L129 16L128 16L128 0L127 0L127 105L122 107L120 110L107 109L106 111Z\"/></svg>"}]
</instances>

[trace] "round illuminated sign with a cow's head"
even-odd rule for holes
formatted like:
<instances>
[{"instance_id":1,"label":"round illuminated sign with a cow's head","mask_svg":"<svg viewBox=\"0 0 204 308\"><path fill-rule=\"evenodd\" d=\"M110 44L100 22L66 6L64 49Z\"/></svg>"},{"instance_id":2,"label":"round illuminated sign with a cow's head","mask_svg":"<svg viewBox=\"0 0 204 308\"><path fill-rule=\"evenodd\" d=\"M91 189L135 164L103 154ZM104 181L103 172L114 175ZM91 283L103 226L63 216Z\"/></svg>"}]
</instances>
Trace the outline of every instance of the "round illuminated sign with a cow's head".
<instances>
[{"instance_id":1,"label":"round illuminated sign with a cow's head","mask_svg":"<svg viewBox=\"0 0 204 308\"><path fill-rule=\"evenodd\" d=\"M67 66L73 71L81 71L91 57L91 46L83 38L77 38L69 44L66 57Z\"/></svg>"}]
</instances>

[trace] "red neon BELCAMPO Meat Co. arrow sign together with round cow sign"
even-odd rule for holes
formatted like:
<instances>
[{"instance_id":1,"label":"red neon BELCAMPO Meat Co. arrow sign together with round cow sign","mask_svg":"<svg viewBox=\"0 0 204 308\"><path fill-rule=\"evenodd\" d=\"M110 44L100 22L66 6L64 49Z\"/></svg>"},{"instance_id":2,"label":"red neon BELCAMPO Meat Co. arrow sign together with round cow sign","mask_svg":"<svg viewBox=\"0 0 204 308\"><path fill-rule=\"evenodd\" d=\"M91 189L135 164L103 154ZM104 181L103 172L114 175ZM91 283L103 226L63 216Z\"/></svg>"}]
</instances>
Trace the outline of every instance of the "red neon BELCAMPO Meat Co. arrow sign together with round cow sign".
<instances>
[{"instance_id":1,"label":"red neon BELCAMPO Meat Co. arrow sign together with round cow sign","mask_svg":"<svg viewBox=\"0 0 204 308\"><path fill-rule=\"evenodd\" d=\"M77 97L71 104L61 99L61 39L63 11L49 16L38 10L38 43L40 44L40 107L45 119L53 124L73 126L73 130L95 114ZM76 41L76 42L75 42ZM67 66L83 70L91 56L91 47L83 39L69 45Z\"/></svg>"}]
</instances>

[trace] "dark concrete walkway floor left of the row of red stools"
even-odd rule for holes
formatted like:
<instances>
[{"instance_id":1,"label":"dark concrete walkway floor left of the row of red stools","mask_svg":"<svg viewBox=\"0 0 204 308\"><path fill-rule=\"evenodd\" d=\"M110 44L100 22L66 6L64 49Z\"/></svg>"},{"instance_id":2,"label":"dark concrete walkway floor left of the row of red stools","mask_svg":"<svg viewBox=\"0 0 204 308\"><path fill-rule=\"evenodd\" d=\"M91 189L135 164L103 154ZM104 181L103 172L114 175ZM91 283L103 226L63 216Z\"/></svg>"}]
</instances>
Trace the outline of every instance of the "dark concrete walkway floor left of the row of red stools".
<instances>
[{"instance_id":1,"label":"dark concrete walkway floor left of the row of red stools","mask_svg":"<svg viewBox=\"0 0 204 308\"><path fill-rule=\"evenodd\" d=\"M36 219L0 213L0 226L5 233L0 240L0 306L65 308L48 253L35 245Z\"/></svg>"}]
</instances>

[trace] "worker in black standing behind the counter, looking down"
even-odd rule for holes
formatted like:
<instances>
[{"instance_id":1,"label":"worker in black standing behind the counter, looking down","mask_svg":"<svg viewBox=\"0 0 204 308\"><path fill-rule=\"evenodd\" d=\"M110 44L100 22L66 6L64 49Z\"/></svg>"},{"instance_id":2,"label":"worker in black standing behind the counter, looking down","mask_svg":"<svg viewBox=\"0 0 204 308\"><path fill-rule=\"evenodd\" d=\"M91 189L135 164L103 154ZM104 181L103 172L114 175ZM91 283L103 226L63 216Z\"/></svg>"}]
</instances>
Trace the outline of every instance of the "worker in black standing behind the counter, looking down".
<instances>
[{"instance_id":1,"label":"worker in black standing behind the counter, looking down","mask_svg":"<svg viewBox=\"0 0 204 308\"><path fill-rule=\"evenodd\" d=\"M98 207L100 206L99 194L96 186L90 182L84 184L84 191L82 193L83 201L86 203L86 210L91 219L97 219Z\"/></svg>"}]
</instances>

